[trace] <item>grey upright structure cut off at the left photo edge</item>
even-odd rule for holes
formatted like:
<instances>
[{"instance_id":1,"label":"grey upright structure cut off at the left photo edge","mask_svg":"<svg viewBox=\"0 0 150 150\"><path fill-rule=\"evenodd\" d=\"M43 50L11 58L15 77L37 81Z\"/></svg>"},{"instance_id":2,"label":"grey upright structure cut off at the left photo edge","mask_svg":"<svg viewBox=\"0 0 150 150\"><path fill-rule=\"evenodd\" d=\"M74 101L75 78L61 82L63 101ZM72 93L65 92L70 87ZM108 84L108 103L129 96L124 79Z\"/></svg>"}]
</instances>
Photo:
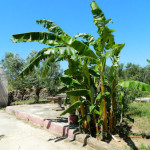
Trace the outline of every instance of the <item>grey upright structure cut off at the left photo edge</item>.
<instances>
[{"instance_id":1,"label":"grey upright structure cut off at the left photo edge","mask_svg":"<svg viewBox=\"0 0 150 150\"><path fill-rule=\"evenodd\" d=\"M8 82L3 68L0 66L0 107L8 104Z\"/></svg>"}]
</instances>

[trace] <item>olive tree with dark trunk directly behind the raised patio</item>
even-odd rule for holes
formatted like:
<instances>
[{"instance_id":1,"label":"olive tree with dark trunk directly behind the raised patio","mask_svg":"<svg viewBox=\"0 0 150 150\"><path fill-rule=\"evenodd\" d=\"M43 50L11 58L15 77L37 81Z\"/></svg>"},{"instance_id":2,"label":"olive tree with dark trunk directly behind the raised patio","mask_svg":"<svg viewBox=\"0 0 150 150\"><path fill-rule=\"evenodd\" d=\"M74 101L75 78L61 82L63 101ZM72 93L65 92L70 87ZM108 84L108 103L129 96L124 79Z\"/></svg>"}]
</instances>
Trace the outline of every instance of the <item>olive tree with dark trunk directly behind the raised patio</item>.
<instances>
[{"instance_id":1,"label":"olive tree with dark trunk directly behind the raised patio","mask_svg":"<svg viewBox=\"0 0 150 150\"><path fill-rule=\"evenodd\" d=\"M37 51L33 50L30 52L26 59L26 65L30 63L32 57L37 55ZM34 87L35 90L35 103L39 102L39 94L41 89L46 88L49 95L55 95L57 87L59 86L59 77L61 76L61 71L59 71L60 66L58 63L51 63L51 59L45 59L36 68L32 70L24 78L28 78L28 87ZM45 75L46 74L46 75Z\"/></svg>"}]
</instances>

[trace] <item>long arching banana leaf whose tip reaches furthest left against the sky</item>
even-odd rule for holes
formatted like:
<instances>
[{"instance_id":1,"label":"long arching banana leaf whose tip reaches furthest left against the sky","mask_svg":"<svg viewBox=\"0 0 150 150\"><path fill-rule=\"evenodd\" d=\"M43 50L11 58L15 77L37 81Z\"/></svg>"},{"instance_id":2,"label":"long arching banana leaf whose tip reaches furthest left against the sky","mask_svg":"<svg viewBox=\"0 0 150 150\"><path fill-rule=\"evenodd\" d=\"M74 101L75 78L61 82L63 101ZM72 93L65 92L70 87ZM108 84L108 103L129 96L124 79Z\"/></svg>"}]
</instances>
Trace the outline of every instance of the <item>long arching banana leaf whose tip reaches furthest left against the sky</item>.
<instances>
[{"instance_id":1,"label":"long arching banana leaf whose tip reaches furthest left against the sky","mask_svg":"<svg viewBox=\"0 0 150 150\"><path fill-rule=\"evenodd\" d=\"M74 48L83 56L97 58L95 53L84 43L71 38L70 36L57 35L47 32L29 32L13 35L12 42L40 42L50 46L65 44Z\"/></svg>"}]
</instances>

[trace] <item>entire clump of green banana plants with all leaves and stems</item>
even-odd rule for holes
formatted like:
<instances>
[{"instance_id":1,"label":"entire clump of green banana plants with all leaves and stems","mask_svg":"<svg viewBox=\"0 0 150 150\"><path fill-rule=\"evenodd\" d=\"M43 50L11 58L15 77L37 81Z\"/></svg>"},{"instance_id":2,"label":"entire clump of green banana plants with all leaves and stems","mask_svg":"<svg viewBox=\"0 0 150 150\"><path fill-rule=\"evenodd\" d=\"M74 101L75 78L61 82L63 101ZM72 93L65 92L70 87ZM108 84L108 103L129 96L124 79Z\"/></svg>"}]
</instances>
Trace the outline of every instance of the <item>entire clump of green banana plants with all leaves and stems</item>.
<instances>
[{"instance_id":1,"label":"entire clump of green banana plants with all leaves and stems","mask_svg":"<svg viewBox=\"0 0 150 150\"><path fill-rule=\"evenodd\" d=\"M127 88L136 87L136 89L150 91L150 86L142 82L131 81L132 71L137 67L134 66L128 73L130 65L126 67L126 70L119 65L119 54L125 44L115 43L114 30L107 26L112 21L105 18L103 11L94 0L91 2L91 12L94 24L97 26L99 35L97 39L88 33L79 33L72 38L53 21L37 20L37 23L48 29L49 32L17 34L13 35L12 41L39 42L50 46L32 57L22 71L22 76L33 72L35 66L40 67L41 60L48 59L43 69L44 76L48 76L51 63L61 60L68 61L68 69L64 71L66 76L60 78L64 87L58 93L66 92L67 99L72 101L72 105L61 115L80 108L78 109L78 122L81 128L87 132L94 123L96 134L99 134L102 123L104 132L112 128L108 122L113 122L115 130L116 114L121 112L122 115L125 110ZM111 60L111 67L106 66L107 59ZM148 71L146 74L148 75ZM129 81L124 81L126 75ZM146 81L146 78L143 81Z\"/></svg>"}]
</instances>

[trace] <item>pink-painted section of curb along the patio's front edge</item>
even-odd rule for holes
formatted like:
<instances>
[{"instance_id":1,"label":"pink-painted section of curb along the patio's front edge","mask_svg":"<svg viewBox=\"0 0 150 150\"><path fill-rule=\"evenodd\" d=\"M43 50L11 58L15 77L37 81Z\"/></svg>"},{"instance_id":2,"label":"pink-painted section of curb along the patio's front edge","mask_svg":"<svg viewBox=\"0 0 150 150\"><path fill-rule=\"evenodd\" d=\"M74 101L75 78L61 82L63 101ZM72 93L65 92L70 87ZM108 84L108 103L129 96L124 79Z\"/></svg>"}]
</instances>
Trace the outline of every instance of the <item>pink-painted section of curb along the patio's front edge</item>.
<instances>
[{"instance_id":1,"label":"pink-painted section of curb along the patio's front edge","mask_svg":"<svg viewBox=\"0 0 150 150\"><path fill-rule=\"evenodd\" d=\"M65 136L69 139L73 139L74 137L73 129L69 129L68 127L62 126L55 122L51 122L50 120L45 120L35 115L20 112L18 110L12 109L10 106L6 107L6 112L15 115L17 118L21 118L23 120L27 120L33 124L36 124L39 127L42 126L45 129L48 129L55 134L58 134L59 136Z\"/></svg>"}]
</instances>

